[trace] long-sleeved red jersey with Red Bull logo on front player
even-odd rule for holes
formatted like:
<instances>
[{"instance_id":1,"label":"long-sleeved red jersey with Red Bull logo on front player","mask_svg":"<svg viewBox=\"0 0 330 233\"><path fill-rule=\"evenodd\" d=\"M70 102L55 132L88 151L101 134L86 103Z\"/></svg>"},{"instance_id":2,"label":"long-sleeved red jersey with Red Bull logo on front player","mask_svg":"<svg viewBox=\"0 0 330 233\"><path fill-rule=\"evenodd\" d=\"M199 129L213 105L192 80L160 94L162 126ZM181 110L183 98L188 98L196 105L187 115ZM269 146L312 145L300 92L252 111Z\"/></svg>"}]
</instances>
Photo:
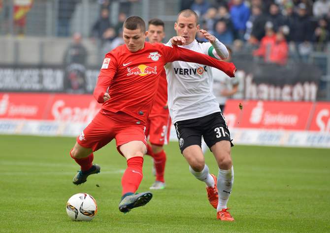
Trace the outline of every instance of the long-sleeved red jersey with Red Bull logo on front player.
<instances>
[{"instance_id":1,"label":"long-sleeved red jersey with Red Bull logo on front player","mask_svg":"<svg viewBox=\"0 0 330 233\"><path fill-rule=\"evenodd\" d=\"M230 77L236 70L232 63L177 46L145 42L143 49L132 53L126 45L122 45L105 55L94 96L99 103L103 103L103 95L108 89L110 99L103 103L103 111L124 112L136 119L134 123L145 124L164 65L174 60L213 66Z\"/></svg>"}]
</instances>

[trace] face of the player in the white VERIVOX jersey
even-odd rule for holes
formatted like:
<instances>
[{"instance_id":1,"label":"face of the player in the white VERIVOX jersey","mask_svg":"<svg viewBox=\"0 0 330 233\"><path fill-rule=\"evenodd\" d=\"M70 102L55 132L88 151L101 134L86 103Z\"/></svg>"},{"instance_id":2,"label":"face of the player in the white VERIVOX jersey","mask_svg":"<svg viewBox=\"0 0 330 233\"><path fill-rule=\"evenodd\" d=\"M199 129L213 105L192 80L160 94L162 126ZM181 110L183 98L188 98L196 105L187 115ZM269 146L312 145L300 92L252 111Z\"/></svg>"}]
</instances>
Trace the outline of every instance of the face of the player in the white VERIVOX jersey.
<instances>
[{"instance_id":1,"label":"face of the player in the white VERIVOX jersey","mask_svg":"<svg viewBox=\"0 0 330 233\"><path fill-rule=\"evenodd\" d=\"M179 15L177 22L174 24L174 29L177 35L186 39L186 45L188 45L195 40L199 25L197 25L194 15L189 17Z\"/></svg>"}]
</instances>

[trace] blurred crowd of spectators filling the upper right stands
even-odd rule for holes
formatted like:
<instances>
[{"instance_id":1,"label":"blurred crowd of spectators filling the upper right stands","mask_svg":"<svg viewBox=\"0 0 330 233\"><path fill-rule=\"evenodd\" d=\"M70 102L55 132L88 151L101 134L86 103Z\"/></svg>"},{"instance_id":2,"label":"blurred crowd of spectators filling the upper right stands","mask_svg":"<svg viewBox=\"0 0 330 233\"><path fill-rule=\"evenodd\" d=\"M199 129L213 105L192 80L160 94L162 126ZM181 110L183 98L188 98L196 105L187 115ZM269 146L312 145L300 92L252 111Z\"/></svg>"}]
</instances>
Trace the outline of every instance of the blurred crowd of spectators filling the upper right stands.
<instances>
[{"instance_id":1,"label":"blurred crowd of spectators filling the upper right stands","mask_svg":"<svg viewBox=\"0 0 330 233\"><path fill-rule=\"evenodd\" d=\"M184 0L184 8L234 52L252 50L264 62L305 62L312 51L329 51L330 0Z\"/></svg>"}]
</instances>

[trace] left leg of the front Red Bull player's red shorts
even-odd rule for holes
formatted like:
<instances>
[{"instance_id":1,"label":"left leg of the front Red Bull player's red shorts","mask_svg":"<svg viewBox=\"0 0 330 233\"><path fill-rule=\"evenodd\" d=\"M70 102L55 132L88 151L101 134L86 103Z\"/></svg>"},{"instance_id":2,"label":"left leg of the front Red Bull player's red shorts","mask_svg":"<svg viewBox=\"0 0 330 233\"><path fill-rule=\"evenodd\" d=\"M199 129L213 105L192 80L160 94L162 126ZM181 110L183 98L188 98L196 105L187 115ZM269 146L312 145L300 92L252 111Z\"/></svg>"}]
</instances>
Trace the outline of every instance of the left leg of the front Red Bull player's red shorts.
<instances>
[{"instance_id":1,"label":"left leg of the front Red Bull player's red shorts","mask_svg":"<svg viewBox=\"0 0 330 233\"><path fill-rule=\"evenodd\" d=\"M77 144L96 151L114 139L116 122L100 112L77 137Z\"/></svg>"}]
</instances>

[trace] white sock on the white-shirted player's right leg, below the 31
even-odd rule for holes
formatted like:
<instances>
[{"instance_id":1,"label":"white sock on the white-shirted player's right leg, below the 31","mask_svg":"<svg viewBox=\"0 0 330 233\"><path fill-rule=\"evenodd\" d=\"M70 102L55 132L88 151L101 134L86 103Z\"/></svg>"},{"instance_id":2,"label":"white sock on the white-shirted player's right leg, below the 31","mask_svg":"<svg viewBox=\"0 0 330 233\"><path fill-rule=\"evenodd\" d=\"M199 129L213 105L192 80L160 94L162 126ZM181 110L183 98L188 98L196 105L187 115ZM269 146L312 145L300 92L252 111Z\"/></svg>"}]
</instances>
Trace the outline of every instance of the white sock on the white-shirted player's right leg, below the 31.
<instances>
[{"instance_id":1,"label":"white sock on the white-shirted player's right leg, below the 31","mask_svg":"<svg viewBox=\"0 0 330 233\"><path fill-rule=\"evenodd\" d=\"M217 211L227 208L227 203L229 196L231 196L232 184L234 182L234 168L231 167L230 170L221 170L219 169L218 175L218 193L219 193L219 202Z\"/></svg>"}]
</instances>

